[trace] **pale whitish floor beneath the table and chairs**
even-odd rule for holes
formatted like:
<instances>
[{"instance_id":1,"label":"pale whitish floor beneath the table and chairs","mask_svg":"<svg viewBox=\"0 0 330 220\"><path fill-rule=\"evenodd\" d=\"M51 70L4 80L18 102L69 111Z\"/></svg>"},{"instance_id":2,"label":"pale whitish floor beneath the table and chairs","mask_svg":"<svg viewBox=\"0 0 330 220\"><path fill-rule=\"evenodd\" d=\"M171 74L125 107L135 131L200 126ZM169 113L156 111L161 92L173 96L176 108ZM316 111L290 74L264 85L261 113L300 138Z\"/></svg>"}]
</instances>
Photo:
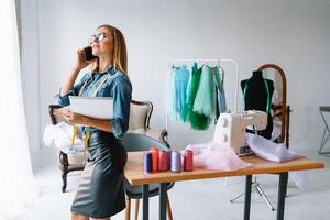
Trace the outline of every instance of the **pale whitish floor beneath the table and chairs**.
<instances>
[{"instance_id":1,"label":"pale whitish floor beneath the table and chairs","mask_svg":"<svg viewBox=\"0 0 330 220\"><path fill-rule=\"evenodd\" d=\"M305 148L305 150L304 150ZM308 147L296 150L309 158L326 163L324 169L310 170L309 187L306 190L297 188L292 180L288 184L288 195L285 206L287 220L329 220L330 219L330 155L318 155L317 150ZM35 166L35 177L42 196L24 219L26 220L64 220L70 218L70 204L79 182L79 172L68 177L67 193L61 191L62 180L57 167L57 153L53 148L45 148ZM277 175L257 175L264 193L276 208ZM177 220L237 220L243 219L243 197L231 204L229 200L244 190L244 177L231 177L207 180L190 180L176 183L169 191L174 219ZM141 202L142 205L142 202ZM150 219L158 217L158 197L150 200ZM132 204L134 207L134 204ZM140 207L140 218L141 218ZM132 211L133 212L133 211ZM120 212L112 219L124 219ZM251 220L276 219L276 210L271 211L266 202L257 193L252 193Z\"/></svg>"}]
</instances>

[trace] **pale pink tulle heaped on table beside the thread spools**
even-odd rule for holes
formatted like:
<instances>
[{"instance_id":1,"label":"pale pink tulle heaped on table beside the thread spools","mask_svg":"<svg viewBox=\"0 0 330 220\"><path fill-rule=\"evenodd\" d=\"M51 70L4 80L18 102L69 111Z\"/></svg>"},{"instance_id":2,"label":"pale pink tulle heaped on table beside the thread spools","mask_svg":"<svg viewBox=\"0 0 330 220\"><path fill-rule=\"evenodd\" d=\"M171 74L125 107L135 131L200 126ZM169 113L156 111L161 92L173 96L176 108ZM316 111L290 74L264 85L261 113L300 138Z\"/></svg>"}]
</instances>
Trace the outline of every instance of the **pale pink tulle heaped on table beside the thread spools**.
<instances>
[{"instance_id":1,"label":"pale pink tulle heaped on table beside the thread spools","mask_svg":"<svg viewBox=\"0 0 330 220\"><path fill-rule=\"evenodd\" d=\"M194 152L194 167L212 170L238 170L252 166L241 160L235 152L219 143L189 144L186 150Z\"/></svg>"}]
</instances>

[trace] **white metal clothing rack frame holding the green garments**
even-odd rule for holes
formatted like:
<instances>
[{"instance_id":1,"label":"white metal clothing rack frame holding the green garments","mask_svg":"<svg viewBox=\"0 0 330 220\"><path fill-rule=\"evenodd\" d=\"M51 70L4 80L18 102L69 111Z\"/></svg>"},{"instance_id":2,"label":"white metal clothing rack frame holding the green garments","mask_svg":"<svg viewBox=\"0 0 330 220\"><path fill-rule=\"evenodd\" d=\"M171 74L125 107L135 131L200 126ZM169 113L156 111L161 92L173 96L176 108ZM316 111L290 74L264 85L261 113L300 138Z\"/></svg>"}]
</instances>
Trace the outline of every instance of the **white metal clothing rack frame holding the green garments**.
<instances>
[{"instance_id":1,"label":"white metal clothing rack frame holding the green garments","mask_svg":"<svg viewBox=\"0 0 330 220\"><path fill-rule=\"evenodd\" d=\"M235 107L234 110L238 111L238 94L239 94L239 64L235 59L233 58L175 58L172 59L170 63L168 63L168 67L175 65L175 64L185 64L185 63L209 63L209 62L215 62L217 63L218 66L221 67L221 63L232 63L234 64L235 67ZM166 112L166 131L168 130L168 112Z\"/></svg>"}]
</instances>

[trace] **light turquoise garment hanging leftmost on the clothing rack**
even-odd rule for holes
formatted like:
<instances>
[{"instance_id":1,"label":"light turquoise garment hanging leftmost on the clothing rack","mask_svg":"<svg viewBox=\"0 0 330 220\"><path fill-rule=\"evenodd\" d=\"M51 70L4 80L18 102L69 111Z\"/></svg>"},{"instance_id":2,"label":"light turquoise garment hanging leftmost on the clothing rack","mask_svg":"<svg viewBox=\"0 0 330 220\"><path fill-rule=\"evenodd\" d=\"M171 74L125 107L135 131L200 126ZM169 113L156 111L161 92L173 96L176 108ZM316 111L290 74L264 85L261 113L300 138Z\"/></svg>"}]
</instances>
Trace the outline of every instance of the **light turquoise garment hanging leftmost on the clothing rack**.
<instances>
[{"instance_id":1,"label":"light turquoise garment hanging leftmost on the clothing rack","mask_svg":"<svg viewBox=\"0 0 330 220\"><path fill-rule=\"evenodd\" d=\"M187 86L189 80L189 70L186 66L173 67L174 73L174 96L175 96L175 114L179 114L182 121L186 121L186 99L187 99ZM175 117L176 119L176 117Z\"/></svg>"}]
</instances>

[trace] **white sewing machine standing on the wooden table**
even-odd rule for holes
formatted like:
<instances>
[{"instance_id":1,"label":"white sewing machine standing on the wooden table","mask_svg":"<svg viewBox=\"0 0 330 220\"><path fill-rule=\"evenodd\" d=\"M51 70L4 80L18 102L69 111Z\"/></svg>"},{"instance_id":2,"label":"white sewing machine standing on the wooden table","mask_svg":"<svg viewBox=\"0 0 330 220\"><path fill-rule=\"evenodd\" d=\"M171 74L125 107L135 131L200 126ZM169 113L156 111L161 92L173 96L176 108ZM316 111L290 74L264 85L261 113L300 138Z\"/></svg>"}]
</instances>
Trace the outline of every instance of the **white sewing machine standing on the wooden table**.
<instances>
[{"instance_id":1,"label":"white sewing machine standing on the wooden table","mask_svg":"<svg viewBox=\"0 0 330 220\"><path fill-rule=\"evenodd\" d=\"M231 146L238 155L251 154L246 145L245 129L264 130L267 125L267 114L263 111L242 111L221 113L216 127L213 142Z\"/></svg>"}]
</instances>

